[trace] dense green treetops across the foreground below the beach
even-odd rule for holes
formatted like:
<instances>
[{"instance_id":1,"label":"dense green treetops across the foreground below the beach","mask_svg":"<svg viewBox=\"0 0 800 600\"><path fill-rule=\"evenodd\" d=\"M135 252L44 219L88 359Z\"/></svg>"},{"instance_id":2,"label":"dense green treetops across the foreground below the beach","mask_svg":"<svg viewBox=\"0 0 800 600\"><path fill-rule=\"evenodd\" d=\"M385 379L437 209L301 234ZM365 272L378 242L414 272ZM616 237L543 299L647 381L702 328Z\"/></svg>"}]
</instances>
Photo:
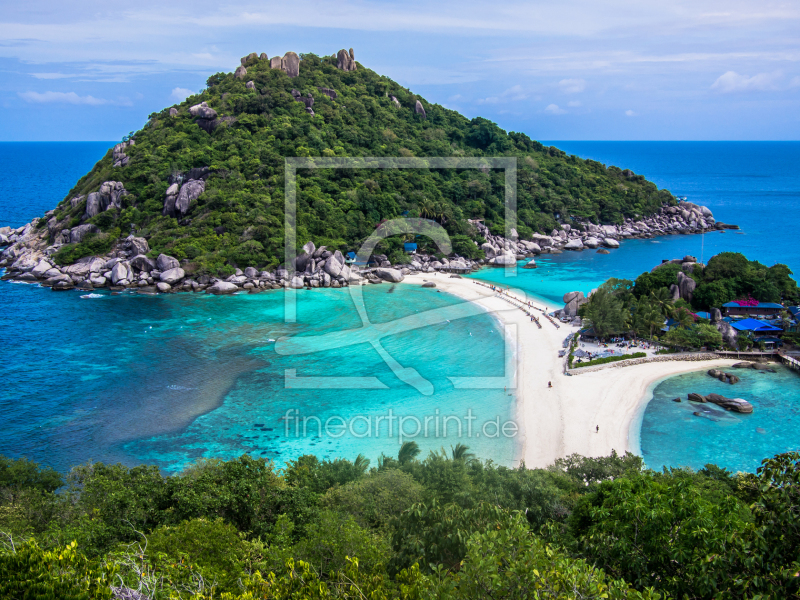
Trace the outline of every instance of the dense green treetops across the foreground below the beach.
<instances>
[{"instance_id":1,"label":"dense green treetops across the foreground below the beach","mask_svg":"<svg viewBox=\"0 0 800 600\"><path fill-rule=\"evenodd\" d=\"M734 475L419 452L66 479L0 457L0 597L800 598L800 453Z\"/></svg>"}]
</instances>

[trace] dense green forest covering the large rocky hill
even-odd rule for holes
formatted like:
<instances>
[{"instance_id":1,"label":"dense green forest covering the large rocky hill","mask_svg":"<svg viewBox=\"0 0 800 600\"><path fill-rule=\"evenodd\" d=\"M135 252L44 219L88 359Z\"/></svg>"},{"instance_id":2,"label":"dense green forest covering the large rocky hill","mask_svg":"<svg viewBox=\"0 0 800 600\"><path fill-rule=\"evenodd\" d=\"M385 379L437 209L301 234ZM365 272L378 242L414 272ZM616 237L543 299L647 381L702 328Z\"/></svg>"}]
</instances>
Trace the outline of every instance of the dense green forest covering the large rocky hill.
<instances>
[{"instance_id":1,"label":"dense green forest covering the large rocky hill","mask_svg":"<svg viewBox=\"0 0 800 600\"><path fill-rule=\"evenodd\" d=\"M211 272L274 267L283 255L284 159L293 156L515 156L522 239L569 217L621 223L674 203L629 170L467 119L354 60L342 64L341 52L338 60L299 59L287 53L272 68L276 58L251 54L236 74L212 75L202 92L150 115L134 144L110 150L40 221L50 242L63 244L56 259L107 252L134 226L153 256L164 252ZM202 185L181 190L181 203L178 187L170 187L189 179ZM300 244L351 250L382 219L397 216L429 217L451 235L478 241L467 219L504 231L499 170L324 170L301 173L298 190ZM95 227L59 238L79 225Z\"/></svg>"}]
</instances>

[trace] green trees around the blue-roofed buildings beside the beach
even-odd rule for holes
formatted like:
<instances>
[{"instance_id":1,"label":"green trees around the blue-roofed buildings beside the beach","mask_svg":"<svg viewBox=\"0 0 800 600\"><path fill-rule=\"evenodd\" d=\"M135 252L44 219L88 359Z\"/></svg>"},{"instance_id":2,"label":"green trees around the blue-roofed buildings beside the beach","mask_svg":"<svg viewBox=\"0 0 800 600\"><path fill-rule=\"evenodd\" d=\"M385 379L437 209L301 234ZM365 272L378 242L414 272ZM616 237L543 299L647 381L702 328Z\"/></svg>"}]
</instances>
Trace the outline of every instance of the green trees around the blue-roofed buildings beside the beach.
<instances>
[{"instance_id":1,"label":"green trees around the blue-roofed buildings beside the beach","mask_svg":"<svg viewBox=\"0 0 800 600\"><path fill-rule=\"evenodd\" d=\"M635 333L649 339L658 337L661 343L673 347L719 348L723 345L722 335L707 319L696 317L695 311L708 311L747 298L786 305L800 302L800 289L789 267L767 267L738 252L721 252L712 256L705 267L697 263L692 273L685 273L697 285L691 303L672 300L669 287L677 285L680 271L680 264L666 263L642 273L635 281L611 278L580 306L579 314L603 338ZM677 323L662 335L666 319ZM788 325L791 315L783 311L781 319ZM746 349L753 341L739 336L739 344L740 349Z\"/></svg>"}]
</instances>

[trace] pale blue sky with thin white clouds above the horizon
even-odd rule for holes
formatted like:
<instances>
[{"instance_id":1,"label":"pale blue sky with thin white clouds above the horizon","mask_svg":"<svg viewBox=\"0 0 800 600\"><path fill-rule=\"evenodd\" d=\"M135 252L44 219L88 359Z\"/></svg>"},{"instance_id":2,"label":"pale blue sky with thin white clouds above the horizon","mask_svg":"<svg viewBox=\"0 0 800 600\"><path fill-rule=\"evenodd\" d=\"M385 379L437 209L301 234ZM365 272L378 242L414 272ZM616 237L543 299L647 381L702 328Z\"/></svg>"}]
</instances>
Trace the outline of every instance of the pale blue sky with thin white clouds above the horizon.
<instances>
[{"instance_id":1,"label":"pale blue sky with thin white clouds above the horizon","mask_svg":"<svg viewBox=\"0 0 800 600\"><path fill-rule=\"evenodd\" d=\"M0 0L0 141L119 140L250 52L542 140L800 139L800 0Z\"/></svg>"}]
</instances>

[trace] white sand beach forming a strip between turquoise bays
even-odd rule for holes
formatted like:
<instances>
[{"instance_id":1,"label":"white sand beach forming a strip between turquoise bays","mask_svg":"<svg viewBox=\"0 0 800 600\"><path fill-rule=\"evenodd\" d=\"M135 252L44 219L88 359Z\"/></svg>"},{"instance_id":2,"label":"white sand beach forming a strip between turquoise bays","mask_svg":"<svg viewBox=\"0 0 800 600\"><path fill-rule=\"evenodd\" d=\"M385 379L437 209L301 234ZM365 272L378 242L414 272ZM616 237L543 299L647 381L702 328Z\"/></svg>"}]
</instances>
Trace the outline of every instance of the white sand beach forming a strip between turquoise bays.
<instances>
[{"instance_id":1,"label":"white sand beach forming a strip between turquoise bays","mask_svg":"<svg viewBox=\"0 0 800 600\"><path fill-rule=\"evenodd\" d=\"M607 456L612 450L640 452L641 415L655 384L671 375L733 364L734 360L655 362L622 368L608 368L577 376L563 373L563 358L558 357L564 338L577 331L561 324L559 329L538 313L542 328L531 322L522 310L473 279L448 275L415 274L404 283L436 283L438 289L477 302L504 324L517 327L517 419L522 435L520 455L528 467L545 467L557 458L578 453ZM526 298L512 288L511 294ZM535 307L549 311L546 304L530 294ZM548 387L552 382L553 387ZM597 429L599 427L599 430Z\"/></svg>"}]
</instances>

